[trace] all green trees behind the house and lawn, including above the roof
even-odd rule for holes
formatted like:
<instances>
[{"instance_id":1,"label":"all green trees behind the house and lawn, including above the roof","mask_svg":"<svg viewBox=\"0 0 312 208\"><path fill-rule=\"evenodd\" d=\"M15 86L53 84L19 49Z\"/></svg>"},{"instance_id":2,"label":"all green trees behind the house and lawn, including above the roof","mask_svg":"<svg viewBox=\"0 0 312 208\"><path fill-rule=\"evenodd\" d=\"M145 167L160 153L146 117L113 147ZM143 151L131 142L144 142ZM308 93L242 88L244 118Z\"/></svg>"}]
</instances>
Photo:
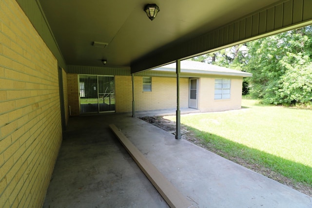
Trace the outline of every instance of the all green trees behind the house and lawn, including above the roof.
<instances>
[{"instance_id":1,"label":"all green trees behind the house and lawn, including above the roof","mask_svg":"<svg viewBox=\"0 0 312 208\"><path fill-rule=\"evenodd\" d=\"M242 95L265 104L311 105L312 26L257 39L192 60L250 72Z\"/></svg>"}]
</instances>

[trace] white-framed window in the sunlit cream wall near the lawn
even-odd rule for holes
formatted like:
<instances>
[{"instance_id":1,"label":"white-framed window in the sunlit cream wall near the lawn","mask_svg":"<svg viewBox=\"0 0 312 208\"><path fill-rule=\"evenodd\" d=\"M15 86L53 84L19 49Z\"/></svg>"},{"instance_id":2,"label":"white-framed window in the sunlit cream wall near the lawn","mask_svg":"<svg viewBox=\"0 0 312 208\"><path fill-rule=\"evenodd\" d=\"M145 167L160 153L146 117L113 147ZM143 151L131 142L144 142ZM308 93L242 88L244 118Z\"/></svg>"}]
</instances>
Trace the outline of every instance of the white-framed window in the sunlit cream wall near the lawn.
<instances>
[{"instance_id":1,"label":"white-framed window in the sunlit cream wall near the lawn","mask_svg":"<svg viewBox=\"0 0 312 208\"><path fill-rule=\"evenodd\" d=\"M215 79L215 100L231 99L231 79Z\"/></svg>"}]
</instances>

